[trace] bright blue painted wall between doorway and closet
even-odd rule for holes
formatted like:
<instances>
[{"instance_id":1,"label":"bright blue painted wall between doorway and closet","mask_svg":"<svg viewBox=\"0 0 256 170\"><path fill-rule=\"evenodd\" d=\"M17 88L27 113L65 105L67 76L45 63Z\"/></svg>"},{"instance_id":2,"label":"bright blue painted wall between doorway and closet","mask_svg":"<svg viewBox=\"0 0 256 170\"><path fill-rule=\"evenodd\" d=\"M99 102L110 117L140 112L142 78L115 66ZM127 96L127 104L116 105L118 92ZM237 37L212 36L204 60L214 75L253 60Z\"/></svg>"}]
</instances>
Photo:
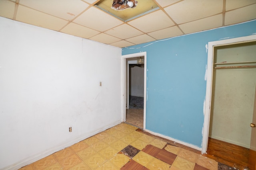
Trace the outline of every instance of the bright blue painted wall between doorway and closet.
<instances>
[{"instance_id":1,"label":"bright blue painted wall between doorway and closet","mask_svg":"<svg viewBox=\"0 0 256 170\"><path fill-rule=\"evenodd\" d=\"M147 52L146 129L202 148L206 44L256 34L256 20L122 49Z\"/></svg>"}]
</instances>

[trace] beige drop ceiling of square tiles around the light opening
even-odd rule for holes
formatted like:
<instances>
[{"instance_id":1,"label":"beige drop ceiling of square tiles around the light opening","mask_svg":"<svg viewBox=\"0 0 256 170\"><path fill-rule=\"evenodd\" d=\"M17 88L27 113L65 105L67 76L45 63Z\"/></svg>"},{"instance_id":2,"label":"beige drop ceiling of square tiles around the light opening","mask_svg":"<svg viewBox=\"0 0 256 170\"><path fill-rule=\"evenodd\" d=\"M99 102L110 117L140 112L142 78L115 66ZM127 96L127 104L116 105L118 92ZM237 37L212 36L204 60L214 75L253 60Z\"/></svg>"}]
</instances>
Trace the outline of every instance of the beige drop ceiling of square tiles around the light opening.
<instances>
[{"instance_id":1,"label":"beige drop ceiling of square tiles around the light opening","mask_svg":"<svg viewBox=\"0 0 256 170\"><path fill-rule=\"evenodd\" d=\"M153 0L156 10L128 21L95 6L99 1L0 0L0 16L116 47L256 19L256 0Z\"/></svg>"}]
</instances>

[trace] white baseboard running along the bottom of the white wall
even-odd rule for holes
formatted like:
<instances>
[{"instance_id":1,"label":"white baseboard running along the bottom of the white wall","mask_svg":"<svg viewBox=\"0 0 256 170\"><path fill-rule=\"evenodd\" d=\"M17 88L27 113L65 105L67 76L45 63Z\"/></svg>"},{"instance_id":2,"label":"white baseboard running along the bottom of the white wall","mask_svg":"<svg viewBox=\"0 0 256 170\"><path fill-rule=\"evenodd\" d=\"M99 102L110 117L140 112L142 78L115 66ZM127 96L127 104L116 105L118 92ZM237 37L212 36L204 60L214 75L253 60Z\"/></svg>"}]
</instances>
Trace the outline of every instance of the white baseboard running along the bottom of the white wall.
<instances>
[{"instance_id":1,"label":"white baseboard running along the bottom of the white wall","mask_svg":"<svg viewBox=\"0 0 256 170\"><path fill-rule=\"evenodd\" d=\"M84 139L87 139L88 137L91 137L93 135L96 135L97 133L100 133L102 131L105 131L106 129L109 129L111 127L114 127L118 124L122 123L122 121L116 121L114 123L111 123L110 125L107 125L105 127L102 127L100 129L97 129L95 131L92 131L91 133L87 133L87 134L84 134L82 135L81 137L78 137L77 139L73 140L73 141L70 141L68 143L63 143L61 145L59 145L58 147L54 147L52 149L49 149L43 153L40 153L40 154L37 154L37 155L34 155L34 156L31 156L29 158L26 158L26 159L23 159L19 162L16 162L15 164L12 164L10 166L7 166L7 167L4 167L2 170L17 170L19 168L22 168L23 166L26 166L28 164L31 164L33 162L36 162L37 160L40 160L42 158L45 158L46 156L49 156L55 152L58 152L59 150L62 150L62 149L65 149L67 147L70 147L80 141L83 141Z\"/></svg>"}]
</instances>

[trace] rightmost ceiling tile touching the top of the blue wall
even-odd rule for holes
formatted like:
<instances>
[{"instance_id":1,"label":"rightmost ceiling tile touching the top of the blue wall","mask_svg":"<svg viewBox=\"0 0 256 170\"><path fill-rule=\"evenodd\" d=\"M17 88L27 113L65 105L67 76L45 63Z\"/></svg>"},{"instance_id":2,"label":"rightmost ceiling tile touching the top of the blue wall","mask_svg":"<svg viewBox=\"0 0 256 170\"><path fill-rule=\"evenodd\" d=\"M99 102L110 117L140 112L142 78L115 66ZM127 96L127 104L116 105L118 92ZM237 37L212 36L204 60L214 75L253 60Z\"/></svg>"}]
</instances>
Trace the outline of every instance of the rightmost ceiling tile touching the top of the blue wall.
<instances>
[{"instance_id":1,"label":"rightmost ceiling tile touching the top of the blue wall","mask_svg":"<svg viewBox=\"0 0 256 170\"><path fill-rule=\"evenodd\" d=\"M256 4L226 12L225 25L256 19Z\"/></svg>"}]
</instances>

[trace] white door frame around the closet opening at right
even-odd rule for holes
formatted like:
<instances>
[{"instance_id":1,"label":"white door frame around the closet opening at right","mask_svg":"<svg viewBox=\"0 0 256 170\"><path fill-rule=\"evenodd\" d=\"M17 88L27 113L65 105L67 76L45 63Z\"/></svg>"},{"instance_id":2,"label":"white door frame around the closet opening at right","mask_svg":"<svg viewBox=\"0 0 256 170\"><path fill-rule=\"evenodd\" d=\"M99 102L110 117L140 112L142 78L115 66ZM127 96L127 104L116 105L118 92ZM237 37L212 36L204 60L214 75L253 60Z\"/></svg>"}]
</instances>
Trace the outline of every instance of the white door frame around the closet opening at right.
<instances>
[{"instance_id":1,"label":"white door frame around the closet opening at right","mask_svg":"<svg viewBox=\"0 0 256 170\"><path fill-rule=\"evenodd\" d=\"M236 44L236 43L245 43L245 42L255 41L255 40L256 40L256 35L250 35L246 37L238 37L238 38L208 42L208 58L207 58L207 70L206 70L206 96L204 101L204 127L202 132L203 133L202 153L206 153L206 150L208 147L210 110L211 110L211 99L212 99L212 73L213 73L214 47Z\"/></svg>"}]
</instances>

